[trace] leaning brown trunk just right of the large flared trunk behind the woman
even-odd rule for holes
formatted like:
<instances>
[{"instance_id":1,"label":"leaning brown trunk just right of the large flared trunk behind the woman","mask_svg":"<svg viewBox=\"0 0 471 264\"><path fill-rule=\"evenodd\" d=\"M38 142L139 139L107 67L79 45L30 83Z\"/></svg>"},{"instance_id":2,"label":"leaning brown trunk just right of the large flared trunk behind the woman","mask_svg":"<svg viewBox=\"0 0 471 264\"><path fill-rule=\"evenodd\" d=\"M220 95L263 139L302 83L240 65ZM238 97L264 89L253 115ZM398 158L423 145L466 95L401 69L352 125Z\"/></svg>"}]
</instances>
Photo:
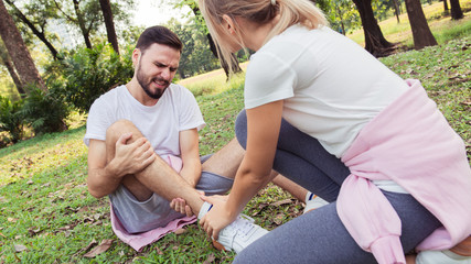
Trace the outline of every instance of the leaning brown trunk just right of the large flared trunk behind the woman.
<instances>
[{"instance_id":1,"label":"leaning brown trunk just right of the large flared trunk behind the woman","mask_svg":"<svg viewBox=\"0 0 471 264\"><path fill-rule=\"evenodd\" d=\"M420 0L406 0L407 15L413 30L414 47L416 50L437 45L435 36L427 24Z\"/></svg>"}]
</instances>

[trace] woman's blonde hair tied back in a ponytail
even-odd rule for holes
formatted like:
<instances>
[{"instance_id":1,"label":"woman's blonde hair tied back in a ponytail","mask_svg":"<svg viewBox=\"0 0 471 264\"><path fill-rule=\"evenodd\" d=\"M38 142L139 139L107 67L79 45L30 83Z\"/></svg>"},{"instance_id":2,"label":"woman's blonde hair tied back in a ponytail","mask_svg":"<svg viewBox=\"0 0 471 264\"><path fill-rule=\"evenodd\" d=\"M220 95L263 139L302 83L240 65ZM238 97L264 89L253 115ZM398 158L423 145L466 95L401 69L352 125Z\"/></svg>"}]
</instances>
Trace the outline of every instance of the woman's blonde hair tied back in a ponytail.
<instances>
[{"instance_id":1,"label":"woman's blonde hair tied back in a ponytail","mask_svg":"<svg viewBox=\"0 0 471 264\"><path fill-rule=\"evenodd\" d=\"M199 0L200 10L206 21L207 29L217 47L221 64L227 64L233 72L234 57L227 46L222 45L223 36L227 34L222 28L223 15L234 21L236 42L244 48L242 29L235 18L243 18L257 24L266 24L279 14L279 21L269 32L264 44L293 24L302 24L310 30L327 25L328 21L322 11L309 0Z\"/></svg>"}]
</instances>

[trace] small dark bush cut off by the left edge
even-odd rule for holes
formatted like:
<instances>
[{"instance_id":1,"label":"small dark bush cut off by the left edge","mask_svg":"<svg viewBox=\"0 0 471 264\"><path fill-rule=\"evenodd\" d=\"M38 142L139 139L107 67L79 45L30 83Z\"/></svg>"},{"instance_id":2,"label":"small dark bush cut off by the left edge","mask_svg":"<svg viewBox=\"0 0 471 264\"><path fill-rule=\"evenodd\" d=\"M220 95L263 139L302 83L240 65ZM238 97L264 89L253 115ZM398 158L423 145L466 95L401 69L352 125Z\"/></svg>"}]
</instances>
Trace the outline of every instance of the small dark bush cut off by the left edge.
<instances>
[{"instance_id":1,"label":"small dark bush cut off by the left edge","mask_svg":"<svg viewBox=\"0 0 471 264\"><path fill-rule=\"evenodd\" d=\"M9 136L0 139L0 145L17 143L23 138L23 119L20 114L22 103L22 100L11 101L0 96L0 132L9 133Z\"/></svg>"}]
</instances>

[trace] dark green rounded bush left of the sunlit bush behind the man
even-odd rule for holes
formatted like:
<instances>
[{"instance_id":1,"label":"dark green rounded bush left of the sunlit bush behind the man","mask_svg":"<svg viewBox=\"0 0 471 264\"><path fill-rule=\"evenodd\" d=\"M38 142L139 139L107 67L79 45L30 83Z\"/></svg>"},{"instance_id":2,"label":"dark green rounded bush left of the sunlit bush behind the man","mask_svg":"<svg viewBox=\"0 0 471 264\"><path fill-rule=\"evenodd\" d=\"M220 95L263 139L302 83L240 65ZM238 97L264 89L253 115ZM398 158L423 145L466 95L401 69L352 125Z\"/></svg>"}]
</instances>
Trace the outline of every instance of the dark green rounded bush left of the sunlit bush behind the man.
<instances>
[{"instance_id":1,"label":"dark green rounded bush left of the sunlit bush behind the man","mask_svg":"<svg viewBox=\"0 0 471 264\"><path fill-rule=\"evenodd\" d=\"M56 87L50 87L47 91L34 88L25 99L20 113L38 135L66 130L64 120L69 113L69 108Z\"/></svg>"}]
</instances>

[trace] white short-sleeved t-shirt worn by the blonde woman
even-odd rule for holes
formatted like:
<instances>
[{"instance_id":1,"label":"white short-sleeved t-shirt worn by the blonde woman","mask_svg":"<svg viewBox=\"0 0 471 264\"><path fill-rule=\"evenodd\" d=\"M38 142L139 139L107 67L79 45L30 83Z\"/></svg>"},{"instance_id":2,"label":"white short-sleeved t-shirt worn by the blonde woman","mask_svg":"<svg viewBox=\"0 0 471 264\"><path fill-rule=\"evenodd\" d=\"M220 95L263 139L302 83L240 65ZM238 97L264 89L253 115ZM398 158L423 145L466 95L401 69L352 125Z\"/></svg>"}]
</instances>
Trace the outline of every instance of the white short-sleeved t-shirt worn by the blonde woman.
<instances>
[{"instance_id":1,"label":"white short-sleeved t-shirt worn by the blonde woman","mask_svg":"<svg viewBox=\"0 0 471 264\"><path fill-rule=\"evenodd\" d=\"M292 25L250 57L245 107L283 100L282 117L336 157L406 89L363 47L324 26Z\"/></svg>"}]
</instances>

